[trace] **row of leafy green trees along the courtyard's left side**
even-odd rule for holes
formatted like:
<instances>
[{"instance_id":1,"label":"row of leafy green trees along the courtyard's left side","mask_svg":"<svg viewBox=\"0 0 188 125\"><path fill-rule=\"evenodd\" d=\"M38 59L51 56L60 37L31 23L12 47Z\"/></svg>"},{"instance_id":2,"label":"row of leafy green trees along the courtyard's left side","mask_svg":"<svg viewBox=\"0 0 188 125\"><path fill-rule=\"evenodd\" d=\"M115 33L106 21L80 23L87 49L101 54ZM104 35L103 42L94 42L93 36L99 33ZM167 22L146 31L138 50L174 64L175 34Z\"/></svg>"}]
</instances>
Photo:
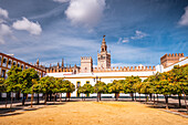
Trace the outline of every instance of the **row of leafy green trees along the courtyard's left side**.
<instances>
[{"instance_id":1,"label":"row of leafy green trees along the courtyard's left side","mask_svg":"<svg viewBox=\"0 0 188 125\"><path fill-rule=\"evenodd\" d=\"M32 94L31 96L31 106L32 106L33 93L38 94L38 104L39 104L39 93L43 93L45 95L44 103L46 104L49 95L50 95L50 100L52 94L58 95L58 93L59 94L66 93L67 97L70 97L69 96L70 93L74 91L75 91L75 86L70 81L63 81L61 79L55 79L53 76L45 76L40 79L38 72L34 69L21 70L18 66L12 66L8 72L7 80L0 79L0 92L19 93L18 95L22 93L23 94L22 105L24 105L27 94ZM11 104L12 104L12 97L13 95L11 95Z\"/></svg>"}]
</instances>

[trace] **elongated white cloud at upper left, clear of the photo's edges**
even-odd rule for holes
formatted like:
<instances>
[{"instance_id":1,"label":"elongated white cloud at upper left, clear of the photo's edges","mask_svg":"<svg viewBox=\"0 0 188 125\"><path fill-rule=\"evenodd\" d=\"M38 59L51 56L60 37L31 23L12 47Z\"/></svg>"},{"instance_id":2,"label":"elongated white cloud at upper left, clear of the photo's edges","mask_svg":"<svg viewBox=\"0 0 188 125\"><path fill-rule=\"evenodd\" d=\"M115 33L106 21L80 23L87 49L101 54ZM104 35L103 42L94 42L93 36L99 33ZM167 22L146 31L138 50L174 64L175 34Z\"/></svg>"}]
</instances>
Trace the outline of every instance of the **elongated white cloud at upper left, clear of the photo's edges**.
<instances>
[{"instance_id":1,"label":"elongated white cloud at upper left, clear of the photo's edges","mask_svg":"<svg viewBox=\"0 0 188 125\"><path fill-rule=\"evenodd\" d=\"M25 30L30 32L30 34L40 34L42 32L41 25L38 22L29 21L27 18L23 17L22 20L18 20L13 22L12 27L15 30Z\"/></svg>"}]
</instances>

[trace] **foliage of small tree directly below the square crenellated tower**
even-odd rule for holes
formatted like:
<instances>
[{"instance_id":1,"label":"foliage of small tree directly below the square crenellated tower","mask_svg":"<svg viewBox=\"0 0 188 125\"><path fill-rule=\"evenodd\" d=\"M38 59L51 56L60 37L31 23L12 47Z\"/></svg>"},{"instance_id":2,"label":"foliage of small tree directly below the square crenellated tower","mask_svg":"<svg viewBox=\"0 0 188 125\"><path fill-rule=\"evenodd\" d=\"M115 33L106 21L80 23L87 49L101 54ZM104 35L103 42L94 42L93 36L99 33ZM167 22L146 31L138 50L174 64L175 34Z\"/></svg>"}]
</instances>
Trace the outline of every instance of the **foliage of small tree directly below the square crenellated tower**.
<instances>
[{"instance_id":1,"label":"foliage of small tree directly below the square crenellated tower","mask_svg":"<svg viewBox=\"0 0 188 125\"><path fill-rule=\"evenodd\" d=\"M91 84L84 84L83 86L80 86L77 88L79 93L84 93L84 94L88 94L88 93L93 93L94 92L94 87Z\"/></svg>"}]
</instances>

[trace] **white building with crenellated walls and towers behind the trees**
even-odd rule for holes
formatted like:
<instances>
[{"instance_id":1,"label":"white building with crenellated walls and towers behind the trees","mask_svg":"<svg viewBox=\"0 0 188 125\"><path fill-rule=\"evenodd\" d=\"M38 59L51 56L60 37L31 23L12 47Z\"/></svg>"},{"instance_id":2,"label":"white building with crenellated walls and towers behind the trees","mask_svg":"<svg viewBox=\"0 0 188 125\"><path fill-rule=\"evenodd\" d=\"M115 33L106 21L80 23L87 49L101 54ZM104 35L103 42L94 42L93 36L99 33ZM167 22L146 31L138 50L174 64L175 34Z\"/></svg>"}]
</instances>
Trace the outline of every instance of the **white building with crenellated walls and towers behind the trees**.
<instances>
[{"instance_id":1,"label":"white building with crenellated walls and towers behind the trees","mask_svg":"<svg viewBox=\"0 0 188 125\"><path fill-rule=\"evenodd\" d=\"M125 80L126 76L139 76L142 80L154 75L157 72L170 71L174 65L185 65L188 64L188 58L184 56L184 53L176 54L165 54L160 58L160 64L154 66L111 66L111 53L107 52L107 44L105 42L105 37L103 37L101 52L97 53L97 67L93 67L93 59L81 58L81 66L75 66L76 72L73 72L73 67L70 66L69 70L59 70L56 66L56 72L48 72L46 75L60 77L71 81L76 90L71 94L73 97L79 97L77 87L86 83L95 85L97 81L112 83L114 80ZM72 72L71 72L72 71ZM121 94L123 96L125 94ZM63 94L65 96L65 94ZM90 94L90 96L96 96L96 94ZM102 96L114 96L114 94L102 94Z\"/></svg>"}]
</instances>

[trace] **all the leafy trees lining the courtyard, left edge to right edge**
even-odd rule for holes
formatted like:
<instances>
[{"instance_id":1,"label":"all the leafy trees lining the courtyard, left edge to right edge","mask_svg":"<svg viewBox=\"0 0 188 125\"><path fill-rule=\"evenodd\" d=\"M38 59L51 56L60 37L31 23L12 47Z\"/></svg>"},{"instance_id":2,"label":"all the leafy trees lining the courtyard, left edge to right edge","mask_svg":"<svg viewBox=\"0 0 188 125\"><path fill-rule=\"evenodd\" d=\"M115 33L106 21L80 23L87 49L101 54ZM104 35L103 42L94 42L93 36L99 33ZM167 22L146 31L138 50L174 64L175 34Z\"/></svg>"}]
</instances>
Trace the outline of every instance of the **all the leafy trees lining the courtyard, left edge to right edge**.
<instances>
[{"instance_id":1,"label":"all the leafy trees lining the courtyard, left edge to right edge","mask_svg":"<svg viewBox=\"0 0 188 125\"><path fill-rule=\"evenodd\" d=\"M21 70L20 67L12 66L8 72L8 79L0 79L0 92L14 92L23 93L22 104L24 105L24 100L27 94L32 94L31 102L33 100L33 93L43 93L45 96L45 103L48 96L50 100L52 94L56 95L61 93L66 93L66 97L70 98L70 93L75 91L74 84L70 81L64 81L61 79L54 79L52 76L45 76L40 79L38 72L33 69ZM127 76L125 80L114 80L113 83L105 84L104 82L97 81L97 83L92 86L91 84L84 84L77 88L79 93L90 94L97 93L97 101L101 101L102 93L115 93L115 98L118 100L119 93L129 93L132 100L136 101L136 93L145 94L146 101L147 96L163 94L166 100L166 107L168 108L168 97L171 94L178 94L179 106L181 95L188 94L188 65L175 66L169 72L156 73L147 77L142 82L138 76ZM65 100L66 100L65 97ZM139 96L140 97L140 96ZM158 100L157 100L158 102ZM31 103L32 104L32 103ZM187 104L187 103L186 103Z\"/></svg>"}]
</instances>

